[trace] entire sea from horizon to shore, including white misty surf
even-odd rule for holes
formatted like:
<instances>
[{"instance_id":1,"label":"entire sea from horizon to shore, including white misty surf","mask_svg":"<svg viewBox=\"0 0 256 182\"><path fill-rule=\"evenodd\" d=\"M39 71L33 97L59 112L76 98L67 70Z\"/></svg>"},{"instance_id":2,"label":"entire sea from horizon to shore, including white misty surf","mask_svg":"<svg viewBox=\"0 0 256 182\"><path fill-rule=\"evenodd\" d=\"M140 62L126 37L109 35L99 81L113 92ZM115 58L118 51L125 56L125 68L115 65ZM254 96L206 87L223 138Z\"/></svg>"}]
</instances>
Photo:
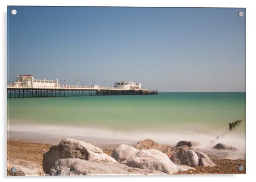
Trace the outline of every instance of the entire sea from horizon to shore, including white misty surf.
<instances>
[{"instance_id":1,"label":"entire sea from horizon to shore, including white misty surf","mask_svg":"<svg viewBox=\"0 0 256 182\"><path fill-rule=\"evenodd\" d=\"M243 120L235 129L229 123ZM175 145L196 140L245 149L245 92L159 92L7 98L8 137L54 143L65 137L90 143L136 143L151 138Z\"/></svg>"}]
</instances>

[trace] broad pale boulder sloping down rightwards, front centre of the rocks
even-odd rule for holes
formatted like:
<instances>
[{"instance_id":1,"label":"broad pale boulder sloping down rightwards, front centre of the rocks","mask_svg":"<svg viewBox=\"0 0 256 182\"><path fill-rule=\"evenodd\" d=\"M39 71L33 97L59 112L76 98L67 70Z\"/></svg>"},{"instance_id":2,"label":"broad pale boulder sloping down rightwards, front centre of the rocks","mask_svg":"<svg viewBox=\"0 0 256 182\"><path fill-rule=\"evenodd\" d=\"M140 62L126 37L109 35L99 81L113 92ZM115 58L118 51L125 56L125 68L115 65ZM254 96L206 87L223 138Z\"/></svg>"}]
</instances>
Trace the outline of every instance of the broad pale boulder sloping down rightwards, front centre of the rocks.
<instances>
[{"instance_id":1,"label":"broad pale boulder sloping down rightwards, front centre of the rocks","mask_svg":"<svg viewBox=\"0 0 256 182\"><path fill-rule=\"evenodd\" d=\"M134 157L121 162L132 168L140 168L146 170L157 170L167 174L174 174L179 171L187 171L189 166L176 165L169 157L159 150L148 149L137 152Z\"/></svg>"}]
</instances>

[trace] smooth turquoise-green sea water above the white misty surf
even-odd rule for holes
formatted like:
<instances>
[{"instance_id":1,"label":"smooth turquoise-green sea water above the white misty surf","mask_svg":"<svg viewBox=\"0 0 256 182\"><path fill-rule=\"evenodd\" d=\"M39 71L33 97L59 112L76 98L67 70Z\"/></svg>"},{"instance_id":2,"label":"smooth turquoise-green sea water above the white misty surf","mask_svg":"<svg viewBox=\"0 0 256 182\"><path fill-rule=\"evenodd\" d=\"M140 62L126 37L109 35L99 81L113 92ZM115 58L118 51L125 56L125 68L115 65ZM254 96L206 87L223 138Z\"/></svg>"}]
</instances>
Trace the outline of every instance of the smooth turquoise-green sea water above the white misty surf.
<instances>
[{"instance_id":1,"label":"smooth turquoise-green sea water above the white misty surf","mask_svg":"<svg viewBox=\"0 0 256 182\"><path fill-rule=\"evenodd\" d=\"M9 125L38 123L108 129L185 124L226 127L245 119L245 92L160 92L59 98L7 98Z\"/></svg>"}]
</instances>

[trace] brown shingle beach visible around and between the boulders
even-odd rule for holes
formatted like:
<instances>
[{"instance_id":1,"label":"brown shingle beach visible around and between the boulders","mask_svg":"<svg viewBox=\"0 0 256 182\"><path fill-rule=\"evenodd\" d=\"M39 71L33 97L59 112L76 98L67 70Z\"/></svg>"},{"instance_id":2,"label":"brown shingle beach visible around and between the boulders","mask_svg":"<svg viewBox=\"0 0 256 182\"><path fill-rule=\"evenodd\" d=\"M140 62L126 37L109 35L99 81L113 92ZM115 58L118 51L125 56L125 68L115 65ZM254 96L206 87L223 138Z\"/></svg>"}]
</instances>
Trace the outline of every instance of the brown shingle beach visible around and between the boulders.
<instances>
[{"instance_id":1,"label":"brown shingle beach visible around and between the boulders","mask_svg":"<svg viewBox=\"0 0 256 182\"><path fill-rule=\"evenodd\" d=\"M105 154L111 156L112 151L118 145L99 146ZM31 162L36 162L43 166L43 153L51 147L51 144L46 143L31 143L26 141L9 140L7 141L7 160L22 159ZM245 174L246 165L245 159L218 159L209 156L216 164L214 167L197 166L196 170L179 172L176 174ZM242 165L243 171L239 171L238 167ZM9 173L9 175L12 175Z\"/></svg>"}]
</instances>

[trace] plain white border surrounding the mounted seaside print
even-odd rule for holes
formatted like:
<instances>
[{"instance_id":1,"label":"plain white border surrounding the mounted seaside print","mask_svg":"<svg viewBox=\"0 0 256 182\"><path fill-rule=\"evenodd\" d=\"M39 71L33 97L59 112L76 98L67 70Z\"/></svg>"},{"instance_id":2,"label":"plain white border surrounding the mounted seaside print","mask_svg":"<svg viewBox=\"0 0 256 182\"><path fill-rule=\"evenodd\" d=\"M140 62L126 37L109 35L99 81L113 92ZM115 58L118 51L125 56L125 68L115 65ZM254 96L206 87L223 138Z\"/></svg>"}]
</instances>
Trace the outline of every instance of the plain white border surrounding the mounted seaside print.
<instances>
[{"instance_id":1,"label":"plain white border surrounding the mounted seaside print","mask_svg":"<svg viewBox=\"0 0 256 182\"><path fill-rule=\"evenodd\" d=\"M255 180L255 133L256 133L256 90L255 90L255 17L256 8L253 0L1 0L1 177L6 180L90 180L90 181L131 181L131 180L178 180L178 181L205 181L216 182L216 180ZM182 176L83 176L83 177L5 177L6 176L6 6L147 6L147 7L235 7L246 8L246 173L245 175L182 175ZM254 46L254 47L253 47Z\"/></svg>"}]
</instances>

